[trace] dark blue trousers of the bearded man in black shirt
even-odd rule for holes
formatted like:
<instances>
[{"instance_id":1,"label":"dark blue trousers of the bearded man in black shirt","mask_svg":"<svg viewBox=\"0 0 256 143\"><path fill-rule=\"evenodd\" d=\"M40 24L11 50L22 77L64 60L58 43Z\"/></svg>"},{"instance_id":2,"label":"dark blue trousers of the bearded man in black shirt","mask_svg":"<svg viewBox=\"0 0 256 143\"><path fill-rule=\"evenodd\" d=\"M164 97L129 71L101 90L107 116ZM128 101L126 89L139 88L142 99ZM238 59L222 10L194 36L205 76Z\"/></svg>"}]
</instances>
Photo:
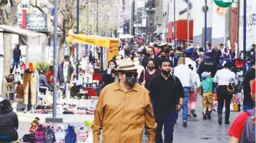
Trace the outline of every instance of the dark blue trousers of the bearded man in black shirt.
<instances>
[{"instance_id":1,"label":"dark blue trousers of the bearded man in black shirt","mask_svg":"<svg viewBox=\"0 0 256 143\"><path fill-rule=\"evenodd\" d=\"M162 115L156 117L156 143L163 143L162 140L162 126L164 125L164 143L172 143L173 141L173 128L175 125L175 120L177 119L178 112L169 113L169 115Z\"/></svg>"}]
</instances>

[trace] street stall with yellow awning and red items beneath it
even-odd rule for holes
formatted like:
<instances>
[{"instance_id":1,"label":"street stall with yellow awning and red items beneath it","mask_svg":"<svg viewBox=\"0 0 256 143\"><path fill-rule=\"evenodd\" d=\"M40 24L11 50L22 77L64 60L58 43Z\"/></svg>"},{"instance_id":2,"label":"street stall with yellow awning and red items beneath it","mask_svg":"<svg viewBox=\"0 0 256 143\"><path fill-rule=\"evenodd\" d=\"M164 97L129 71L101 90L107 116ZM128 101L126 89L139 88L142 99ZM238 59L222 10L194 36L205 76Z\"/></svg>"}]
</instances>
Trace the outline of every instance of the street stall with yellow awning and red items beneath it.
<instances>
[{"instance_id":1,"label":"street stall with yellow awning and red items beneath it","mask_svg":"<svg viewBox=\"0 0 256 143\"><path fill-rule=\"evenodd\" d=\"M103 70L107 69L108 61L118 54L119 39L116 38L74 34L74 32L71 30L68 33L67 43L86 44L101 47L100 64L102 65ZM77 94L97 96L96 90L99 88L100 83L102 82L102 77L100 74L90 73L91 64L89 63L89 60L87 60L87 62L87 73L85 73L83 76L78 76L77 78L77 80L80 79L80 81L82 81L80 82L82 83L82 87L79 87L80 92Z\"/></svg>"}]
</instances>

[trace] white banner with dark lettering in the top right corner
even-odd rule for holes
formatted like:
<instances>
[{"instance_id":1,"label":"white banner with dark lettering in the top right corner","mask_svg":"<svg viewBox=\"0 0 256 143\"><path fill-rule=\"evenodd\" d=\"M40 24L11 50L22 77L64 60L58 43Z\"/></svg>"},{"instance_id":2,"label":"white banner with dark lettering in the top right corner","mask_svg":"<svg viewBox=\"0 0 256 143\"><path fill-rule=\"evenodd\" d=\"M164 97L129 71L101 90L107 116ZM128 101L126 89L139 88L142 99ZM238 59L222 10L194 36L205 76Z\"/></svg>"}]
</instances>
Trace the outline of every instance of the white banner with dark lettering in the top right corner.
<instances>
[{"instance_id":1,"label":"white banner with dark lettering in the top right corner","mask_svg":"<svg viewBox=\"0 0 256 143\"><path fill-rule=\"evenodd\" d=\"M244 31L244 2L240 2L239 14L239 50L243 50ZM246 50L251 50L251 45L256 43L256 2L247 0L246 8Z\"/></svg>"}]
</instances>

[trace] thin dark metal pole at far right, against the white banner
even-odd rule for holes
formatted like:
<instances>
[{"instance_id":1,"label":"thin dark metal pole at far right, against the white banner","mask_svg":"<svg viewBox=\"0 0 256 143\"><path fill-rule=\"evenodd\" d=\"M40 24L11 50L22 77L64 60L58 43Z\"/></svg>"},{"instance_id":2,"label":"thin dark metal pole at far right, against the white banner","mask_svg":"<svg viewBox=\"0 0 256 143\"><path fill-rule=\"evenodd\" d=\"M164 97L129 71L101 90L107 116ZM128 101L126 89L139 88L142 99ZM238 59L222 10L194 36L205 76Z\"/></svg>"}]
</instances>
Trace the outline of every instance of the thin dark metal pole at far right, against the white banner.
<instances>
[{"instance_id":1,"label":"thin dark metal pole at far right, against the white banner","mask_svg":"<svg viewBox=\"0 0 256 143\"><path fill-rule=\"evenodd\" d=\"M243 74L246 73L246 0L244 0L244 31L243 31L243 58L244 58L244 69Z\"/></svg>"}]
</instances>

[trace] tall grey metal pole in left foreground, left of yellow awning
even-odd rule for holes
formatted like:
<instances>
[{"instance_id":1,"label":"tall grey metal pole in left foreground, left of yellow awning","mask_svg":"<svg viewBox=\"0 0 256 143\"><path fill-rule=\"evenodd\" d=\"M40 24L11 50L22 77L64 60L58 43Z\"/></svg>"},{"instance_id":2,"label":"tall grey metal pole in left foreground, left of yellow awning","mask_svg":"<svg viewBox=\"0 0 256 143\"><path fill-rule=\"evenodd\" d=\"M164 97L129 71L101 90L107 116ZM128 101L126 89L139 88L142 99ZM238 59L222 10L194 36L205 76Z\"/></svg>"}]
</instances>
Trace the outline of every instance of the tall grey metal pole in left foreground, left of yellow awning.
<instances>
[{"instance_id":1,"label":"tall grey metal pole in left foreground, left of yellow awning","mask_svg":"<svg viewBox=\"0 0 256 143\"><path fill-rule=\"evenodd\" d=\"M53 119L56 118L57 106L57 0L54 0L54 105Z\"/></svg>"}]
</instances>

